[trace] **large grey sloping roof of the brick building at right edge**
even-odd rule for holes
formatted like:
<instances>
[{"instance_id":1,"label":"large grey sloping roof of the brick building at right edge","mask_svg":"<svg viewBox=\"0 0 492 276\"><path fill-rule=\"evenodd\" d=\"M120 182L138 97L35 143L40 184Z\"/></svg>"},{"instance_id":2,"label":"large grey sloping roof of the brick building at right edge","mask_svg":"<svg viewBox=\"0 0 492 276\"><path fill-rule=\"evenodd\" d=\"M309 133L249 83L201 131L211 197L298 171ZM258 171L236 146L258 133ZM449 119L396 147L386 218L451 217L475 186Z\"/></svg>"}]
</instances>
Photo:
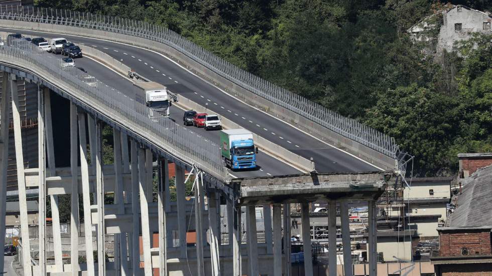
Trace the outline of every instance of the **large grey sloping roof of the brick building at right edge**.
<instances>
[{"instance_id":1,"label":"large grey sloping roof of the brick building at right edge","mask_svg":"<svg viewBox=\"0 0 492 276\"><path fill-rule=\"evenodd\" d=\"M470 179L458 195L449 227L492 225L492 165L478 169Z\"/></svg>"}]
</instances>

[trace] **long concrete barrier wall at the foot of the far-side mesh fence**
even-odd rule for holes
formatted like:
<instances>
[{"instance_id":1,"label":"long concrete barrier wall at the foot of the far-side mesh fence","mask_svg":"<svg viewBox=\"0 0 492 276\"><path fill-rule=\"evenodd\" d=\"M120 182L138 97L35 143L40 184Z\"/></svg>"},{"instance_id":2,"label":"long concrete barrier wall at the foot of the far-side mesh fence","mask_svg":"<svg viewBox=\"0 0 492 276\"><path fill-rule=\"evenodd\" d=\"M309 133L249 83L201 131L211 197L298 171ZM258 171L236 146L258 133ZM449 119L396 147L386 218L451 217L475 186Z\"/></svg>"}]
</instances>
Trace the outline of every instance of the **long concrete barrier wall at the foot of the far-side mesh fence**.
<instances>
[{"instance_id":1,"label":"long concrete barrier wall at the foot of the far-side mesh fence","mask_svg":"<svg viewBox=\"0 0 492 276\"><path fill-rule=\"evenodd\" d=\"M255 106L277 118L280 118L285 122L294 125L295 127L313 135L314 137L322 141L330 143L331 145L340 148L348 153L351 153L361 159L364 159L367 162L374 164L384 170L393 170L396 168L396 162L394 158L382 154L354 140L346 138L343 135L340 135L273 102L265 100L265 98L262 98L251 91L243 89L242 87L239 87L238 85L210 71L205 66L187 57L178 50L165 44L147 39L135 38L128 35L52 24L0 20L0 27L32 31L45 31L50 33L60 33L75 36L86 36L90 38L98 38L135 45L162 53L164 55L167 55L174 61L178 62L183 67L213 83L215 86L242 100L243 102ZM316 162L316 160L314 161Z\"/></svg>"}]
</instances>

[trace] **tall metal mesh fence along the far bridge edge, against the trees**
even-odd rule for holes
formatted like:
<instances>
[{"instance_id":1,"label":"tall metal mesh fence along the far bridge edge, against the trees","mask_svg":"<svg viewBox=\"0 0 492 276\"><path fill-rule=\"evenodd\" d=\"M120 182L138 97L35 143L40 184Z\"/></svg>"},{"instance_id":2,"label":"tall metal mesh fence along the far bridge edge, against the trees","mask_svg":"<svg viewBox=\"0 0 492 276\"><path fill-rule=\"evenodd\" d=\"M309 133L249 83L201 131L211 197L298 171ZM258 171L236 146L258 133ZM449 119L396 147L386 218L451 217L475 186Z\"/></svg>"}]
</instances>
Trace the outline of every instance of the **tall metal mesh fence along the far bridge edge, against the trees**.
<instances>
[{"instance_id":1,"label":"tall metal mesh fence along the far bridge edge, against the trees","mask_svg":"<svg viewBox=\"0 0 492 276\"><path fill-rule=\"evenodd\" d=\"M394 138L244 71L164 27L142 21L91 13L34 7L17 7L16 9L1 5L0 19L101 30L165 44L234 84L302 115L335 133L391 158L398 159L401 156ZM400 163L402 162L400 160Z\"/></svg>"}]
</instances>

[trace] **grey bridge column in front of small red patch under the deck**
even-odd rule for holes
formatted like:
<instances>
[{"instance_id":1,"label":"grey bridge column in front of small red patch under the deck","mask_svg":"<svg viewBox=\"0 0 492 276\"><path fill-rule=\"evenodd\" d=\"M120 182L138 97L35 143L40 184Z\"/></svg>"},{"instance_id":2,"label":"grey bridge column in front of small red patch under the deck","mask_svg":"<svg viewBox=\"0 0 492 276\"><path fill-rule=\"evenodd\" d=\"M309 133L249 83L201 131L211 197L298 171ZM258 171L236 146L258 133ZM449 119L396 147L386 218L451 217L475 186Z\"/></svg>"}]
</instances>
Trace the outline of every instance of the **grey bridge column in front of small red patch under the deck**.
<instances>
[{"instance_id":1,"label":"grey bridge column in front of small red patch under the deck","mask_svg":"<svg viewBox=\"0 0 492 276\"><path fill-rule=\"evenodd\" d=\"M186 210L185 210L185 171L184 168L176 165L176 200L178 205L178 231L180 257L186 258Z\"/></svg>"}]
</instances>

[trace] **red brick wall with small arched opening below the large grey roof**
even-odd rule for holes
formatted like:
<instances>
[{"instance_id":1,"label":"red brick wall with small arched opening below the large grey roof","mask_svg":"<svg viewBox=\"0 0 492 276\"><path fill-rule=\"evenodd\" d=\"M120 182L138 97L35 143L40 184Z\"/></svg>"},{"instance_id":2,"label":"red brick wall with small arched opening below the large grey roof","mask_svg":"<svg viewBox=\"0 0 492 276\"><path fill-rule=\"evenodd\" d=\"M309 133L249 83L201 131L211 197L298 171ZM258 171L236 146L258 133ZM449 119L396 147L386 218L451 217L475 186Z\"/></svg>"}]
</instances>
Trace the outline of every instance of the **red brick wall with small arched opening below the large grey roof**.
<instances>
[{"instance_id":1,"label":"red brick wall with small arched opening below the large grey roof","mask_svg":"<svg viewBox=\"0 0 492 276\"><path fill-rule=\"evenodd\" d=\"M469 255L492 254L490 245L490 230L476 230L468 232L446 231L439 233L439 255L461 256L463 248L468 249Z\"/></svg>"}]
</instances>

